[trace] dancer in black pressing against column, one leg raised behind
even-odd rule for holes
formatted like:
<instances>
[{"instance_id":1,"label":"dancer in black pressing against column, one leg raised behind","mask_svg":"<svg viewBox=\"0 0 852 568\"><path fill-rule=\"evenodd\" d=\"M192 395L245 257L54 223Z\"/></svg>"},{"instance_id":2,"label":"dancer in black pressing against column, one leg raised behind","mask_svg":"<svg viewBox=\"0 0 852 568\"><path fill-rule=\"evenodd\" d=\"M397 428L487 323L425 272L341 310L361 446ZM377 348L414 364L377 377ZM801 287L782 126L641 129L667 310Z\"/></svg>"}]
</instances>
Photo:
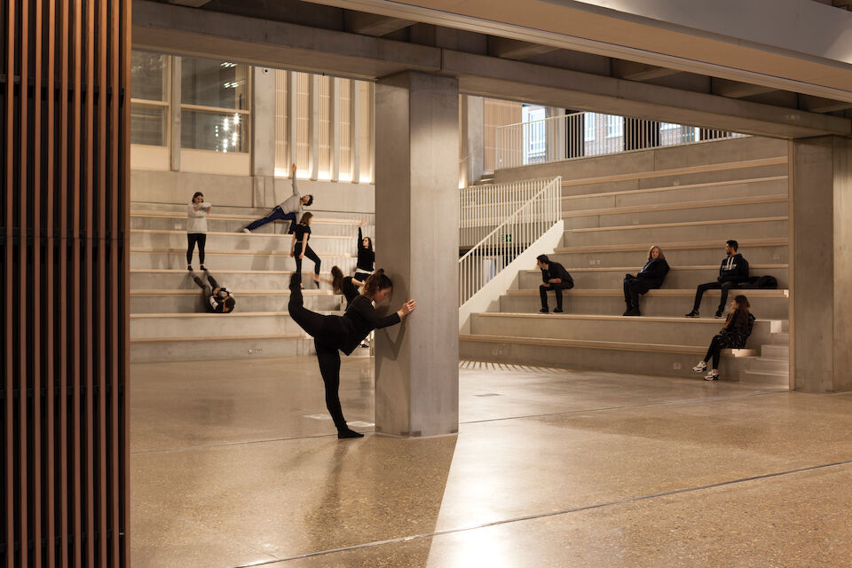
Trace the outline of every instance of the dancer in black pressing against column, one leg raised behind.
<instances>
[{"instance_id":1,"label":"dancer in black pressing against column, one leg raised behind","mask_svg":"<svg viewBox=\"0 0 852 568\"><path fill-rule=\"evenodd\" d=\"M361 438L364 435L350 430L343 419L338 394L340 353L337 350L351 355L368 333L374 329L398 324L409 313L414 312L417 303L414 300L406 300L397 312L380 317L373 303L382 303L393 291L393 283L382 269L367 279L360 296L352 300L343 316L322 315L305 308L300 284L301 275L293 274L290 278L288 309L290 317L313 337L313 344L317 349L319 373L326 387L326 406L332 420L335 421L337 438Z\"/></svg>"}]
</instances>

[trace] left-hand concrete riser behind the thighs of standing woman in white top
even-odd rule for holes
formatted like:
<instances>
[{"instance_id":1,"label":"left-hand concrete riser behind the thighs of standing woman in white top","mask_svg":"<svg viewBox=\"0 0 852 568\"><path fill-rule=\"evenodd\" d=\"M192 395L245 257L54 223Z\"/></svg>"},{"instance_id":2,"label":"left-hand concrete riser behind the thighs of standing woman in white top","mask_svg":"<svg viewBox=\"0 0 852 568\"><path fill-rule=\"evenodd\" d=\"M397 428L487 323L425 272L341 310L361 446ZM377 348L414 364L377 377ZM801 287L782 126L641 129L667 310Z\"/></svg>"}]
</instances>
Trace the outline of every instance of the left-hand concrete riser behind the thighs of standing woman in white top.
<instances>
[{"instance_id":1,"label":"left-hand concrete riser behind the thighs of standing woman in white top","mask_svg":"<svg viewBox=\"0 0 852 568\"><path fill-rule=\"evenodd\" d=\"M290 250L290 235L262 235L244 233L208 233L207 246L217 250ZM355 242L349 238L312 236L308 242L314 250L330 253L353 254ZM186 248L186 233L130 233L130 248Z\"/></svg>"}]
</instances>

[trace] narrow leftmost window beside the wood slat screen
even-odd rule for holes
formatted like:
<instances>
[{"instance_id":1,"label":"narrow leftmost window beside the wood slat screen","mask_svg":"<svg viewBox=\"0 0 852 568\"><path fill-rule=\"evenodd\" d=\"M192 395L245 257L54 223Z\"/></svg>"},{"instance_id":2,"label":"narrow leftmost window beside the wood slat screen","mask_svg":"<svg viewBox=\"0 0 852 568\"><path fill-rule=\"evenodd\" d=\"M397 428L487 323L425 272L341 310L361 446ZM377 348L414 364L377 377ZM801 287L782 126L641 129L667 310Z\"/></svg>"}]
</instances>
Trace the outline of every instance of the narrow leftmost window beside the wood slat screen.
<instances>
[{"instance_id":1,"label":"narrow leftmost window beside the wood slat screen","mask_svg":"<svg viewBox=\"0 0 852 568\"><path fill-rule=\"evenodd\" d=\"M130 55L130 144L169 146L169 63L167 55Z\"/></svg>"}]
</instances>

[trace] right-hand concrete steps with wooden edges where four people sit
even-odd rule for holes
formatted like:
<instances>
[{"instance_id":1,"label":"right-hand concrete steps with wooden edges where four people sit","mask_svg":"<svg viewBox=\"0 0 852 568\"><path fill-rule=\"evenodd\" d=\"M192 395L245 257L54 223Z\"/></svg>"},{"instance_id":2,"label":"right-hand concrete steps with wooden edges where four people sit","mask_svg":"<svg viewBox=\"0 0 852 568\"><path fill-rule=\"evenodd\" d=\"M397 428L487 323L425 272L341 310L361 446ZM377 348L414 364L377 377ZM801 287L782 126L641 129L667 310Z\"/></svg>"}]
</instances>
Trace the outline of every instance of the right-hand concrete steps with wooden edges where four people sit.
<instances>
[{"instance_id":1,"label":"right-hand concrete steps with wooden edges where four people sit","mask_svg":"<svg viewBox=\"0 0 852 568\"><path fill-rule=\"evenodd\" d=\"M758 318L746 350L723 353L724 380L788 385L787 158L782 141L720 140L498 172L496 181L562 176L564 235L549 255L572 273L563 314L540 314L540 271L521 272L497 312L471 316L461 357L614 372L695 376L710 338L719 291L687 319L695 288L715 280L725 241L739 241L752 275L777 290L742 290ZM503 177L501 177L501 175ZM623 317L622 279L651 245L671 271L642 296L642 317ZM549 251L541 251L549 252ZM549 305L553 309L552 293Z\"/></svg>"}]
</instances>

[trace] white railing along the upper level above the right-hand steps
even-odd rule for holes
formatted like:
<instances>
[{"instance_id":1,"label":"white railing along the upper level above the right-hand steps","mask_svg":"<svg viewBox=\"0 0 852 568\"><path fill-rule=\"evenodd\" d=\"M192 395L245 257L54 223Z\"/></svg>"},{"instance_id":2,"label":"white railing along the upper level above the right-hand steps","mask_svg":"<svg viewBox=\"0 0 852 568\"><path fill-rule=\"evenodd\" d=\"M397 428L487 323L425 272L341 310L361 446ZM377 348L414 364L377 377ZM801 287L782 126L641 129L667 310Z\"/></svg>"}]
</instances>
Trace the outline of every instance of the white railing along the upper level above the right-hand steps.
<instances>
[{"instance_id":1,"label":"white railing along the upper level above the right-hand steps","mask_svg":"<svg viewBox=\"0 0 852 568\"><path fill-rule=\"evenodd\" d=\"M615 114L574 113L497 129L497 170L574 158L619 154L661 146L682 146L746 136Z\"/></svg>"}]
</instances>

